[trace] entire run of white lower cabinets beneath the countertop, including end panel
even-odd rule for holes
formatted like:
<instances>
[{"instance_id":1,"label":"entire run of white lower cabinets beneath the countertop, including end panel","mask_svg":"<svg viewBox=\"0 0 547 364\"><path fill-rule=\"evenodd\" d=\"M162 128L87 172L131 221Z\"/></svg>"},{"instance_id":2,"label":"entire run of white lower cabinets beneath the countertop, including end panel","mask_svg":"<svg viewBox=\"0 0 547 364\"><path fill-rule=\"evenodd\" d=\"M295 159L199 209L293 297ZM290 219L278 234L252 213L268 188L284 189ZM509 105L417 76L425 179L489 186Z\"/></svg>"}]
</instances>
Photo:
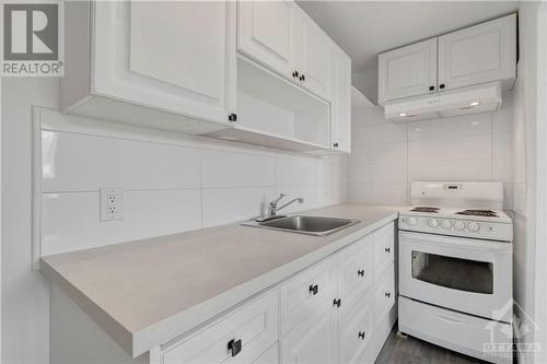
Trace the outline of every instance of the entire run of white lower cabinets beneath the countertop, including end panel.
<instances>
[{"instance_id":1,"label":"entire run of white lower cabinets beneath the countertop, including end panel","mask_svg":"<svg viewBox=\"0 0 547 364\"><path fill-rule=\"evenodd\" d=\"M394 255L374 254L394 247L393 230L386 224L135 359L54 289L51 363L373 363L397 314Z\"/></svg>"}]
</instances>

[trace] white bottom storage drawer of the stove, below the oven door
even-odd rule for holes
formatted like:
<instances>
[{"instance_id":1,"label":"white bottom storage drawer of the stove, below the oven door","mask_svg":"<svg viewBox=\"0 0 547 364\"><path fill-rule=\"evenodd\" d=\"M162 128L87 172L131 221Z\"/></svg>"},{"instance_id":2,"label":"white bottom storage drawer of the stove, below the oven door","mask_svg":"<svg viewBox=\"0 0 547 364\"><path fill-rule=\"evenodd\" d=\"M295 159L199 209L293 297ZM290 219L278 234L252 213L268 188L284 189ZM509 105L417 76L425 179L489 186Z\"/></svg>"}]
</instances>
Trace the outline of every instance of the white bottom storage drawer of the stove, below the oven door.
<instances>
[{"instance_id":1,"label":"white bottom storage drawer of the stove, below the oven door","mask_svg":"<svg viewBox=\"0 0 547 364\"><path fill-rule=\"evenodd\" d=\"M491 321L401 296L399 330L467 355L496 363L512 363L509 352L500 352L496 356L485 356L484 352L484 345L488 347L492 342L511 348L511 324Z\"/></svg>"}]
</instances>

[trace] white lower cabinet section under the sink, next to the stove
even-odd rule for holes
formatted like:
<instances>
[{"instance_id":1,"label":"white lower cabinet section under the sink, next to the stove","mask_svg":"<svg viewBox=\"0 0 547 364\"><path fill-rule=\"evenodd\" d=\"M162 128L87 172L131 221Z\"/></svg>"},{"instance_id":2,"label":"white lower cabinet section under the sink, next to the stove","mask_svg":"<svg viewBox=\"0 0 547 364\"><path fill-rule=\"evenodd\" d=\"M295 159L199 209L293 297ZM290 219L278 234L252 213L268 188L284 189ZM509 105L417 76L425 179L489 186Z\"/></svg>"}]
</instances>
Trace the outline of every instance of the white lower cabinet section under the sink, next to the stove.
<instances>
[{"instance_id":1,"label":"white lower cabinet section under the sink, next to the stove","mask_svg":"<svg viewBox=\"0 0 547 364\"><path fill-rule=\"evenodd\" d=\"M281 285L281 363L362 363L377 355L389 330L375 328L392 319L396 297L394 228L363 236ZM302 293L313 289L311 277L329 278L321 300ZM300 300L283 298L289 294Z\"/></svg>"}]
</instances>

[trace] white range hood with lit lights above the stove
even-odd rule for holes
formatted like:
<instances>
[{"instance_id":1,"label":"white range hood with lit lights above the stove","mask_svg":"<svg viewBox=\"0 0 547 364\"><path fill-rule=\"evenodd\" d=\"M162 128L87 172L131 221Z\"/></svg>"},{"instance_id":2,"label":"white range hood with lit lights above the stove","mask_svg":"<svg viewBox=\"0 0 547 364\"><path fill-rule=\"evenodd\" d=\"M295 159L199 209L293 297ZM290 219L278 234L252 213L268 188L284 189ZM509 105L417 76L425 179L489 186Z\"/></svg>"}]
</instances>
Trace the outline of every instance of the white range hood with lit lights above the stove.
<instances>
[{"instance_id":1,"label":"white range hood with lit lights above the stove","mask_svg":"<svg viewBox=\"0 0 547 364\"><path fill-rule=\"evenodd\" d=\"M384 110L387 119L406 122L494 111L500 106L501 83L492 82L434 95L392 101L385 103Z\"/></svg>"}]
</instances>

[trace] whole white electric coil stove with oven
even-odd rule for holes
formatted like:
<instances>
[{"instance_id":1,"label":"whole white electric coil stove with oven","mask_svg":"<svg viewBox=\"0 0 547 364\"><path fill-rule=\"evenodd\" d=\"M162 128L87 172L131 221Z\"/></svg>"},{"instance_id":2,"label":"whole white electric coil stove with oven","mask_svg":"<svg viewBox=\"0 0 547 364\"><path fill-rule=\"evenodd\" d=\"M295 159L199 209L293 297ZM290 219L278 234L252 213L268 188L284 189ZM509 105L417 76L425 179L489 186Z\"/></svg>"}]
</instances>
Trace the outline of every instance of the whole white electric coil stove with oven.
<instances>
[{"instance_id":1,"label":"whole white electric coil stove with oven","mask_svg":"<svg viewBox=\"0 0 547 364\"><path fill-rule=\"evenodd\" d=\"M511 219L500 183L411 184L399 213L399 331L512 362ZM417 206L419 204L419 206Z\"/></svg>"}]
</instances>

